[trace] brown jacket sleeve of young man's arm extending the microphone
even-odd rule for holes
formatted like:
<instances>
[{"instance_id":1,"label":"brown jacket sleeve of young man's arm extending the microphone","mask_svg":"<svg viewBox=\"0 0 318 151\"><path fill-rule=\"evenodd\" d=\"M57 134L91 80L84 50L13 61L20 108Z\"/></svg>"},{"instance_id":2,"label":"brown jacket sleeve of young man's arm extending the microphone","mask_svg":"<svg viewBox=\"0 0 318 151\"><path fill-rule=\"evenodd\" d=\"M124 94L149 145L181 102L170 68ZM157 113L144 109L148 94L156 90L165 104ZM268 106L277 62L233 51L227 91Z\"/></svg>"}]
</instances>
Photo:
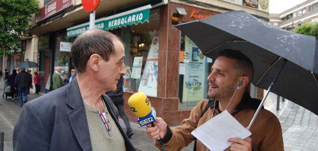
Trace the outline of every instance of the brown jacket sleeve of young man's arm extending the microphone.
<instances>
[{"instance_id":1,"label":"brown jacket sleeve of young man's arm extending the microphone","mask_svg":"<svg viewBox=\"0 0 318 151\"><path fill-rule=\"evenodd\" d=\"M165 143L165 149L168 150L181 150L183 147L188 146L195 137L191 132L197 127L198 121L200 119L201 113L206 106L208 100L200 101L190 113L189 118L184 119L180 126L171 128L172 137ZM155 141L155 146L162 150L162 146Z\"/></svg>"}]
</instances>

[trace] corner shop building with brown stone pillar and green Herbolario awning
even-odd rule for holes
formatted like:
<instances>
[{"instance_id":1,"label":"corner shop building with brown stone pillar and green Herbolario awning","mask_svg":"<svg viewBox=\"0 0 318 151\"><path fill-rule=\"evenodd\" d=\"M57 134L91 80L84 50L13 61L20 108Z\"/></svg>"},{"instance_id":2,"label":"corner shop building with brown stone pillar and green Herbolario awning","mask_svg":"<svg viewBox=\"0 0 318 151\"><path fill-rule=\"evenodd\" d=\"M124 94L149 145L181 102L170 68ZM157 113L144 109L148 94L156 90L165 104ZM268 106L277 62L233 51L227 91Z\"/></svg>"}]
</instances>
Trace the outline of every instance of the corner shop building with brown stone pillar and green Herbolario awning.
<instances>
[{"instance_id":1,"label":"corner shop building with brown stone pillar and green Herbolario awning","mask_svg":"<svg viewBox=\"0 0 318 151\"><path fill-rule=\"evenodd\" d=\"M136 116L127 100L136 92L146 93L157 116L169 119L170 125L187 118L196 103L206 98L212 60L174 25L238 10L268 22L268 4L268 0L101 1L95 28L116 34L125 44L124 107L131 121ZM40 1L39 5L29 32L37 40L33 60L40 64L44 92L57 66L62 66L63 76L70 76L70 46L88 30L89 13L79 0ZM251 91L262 98L262 90Z\"/></svg>"}]
</instances>

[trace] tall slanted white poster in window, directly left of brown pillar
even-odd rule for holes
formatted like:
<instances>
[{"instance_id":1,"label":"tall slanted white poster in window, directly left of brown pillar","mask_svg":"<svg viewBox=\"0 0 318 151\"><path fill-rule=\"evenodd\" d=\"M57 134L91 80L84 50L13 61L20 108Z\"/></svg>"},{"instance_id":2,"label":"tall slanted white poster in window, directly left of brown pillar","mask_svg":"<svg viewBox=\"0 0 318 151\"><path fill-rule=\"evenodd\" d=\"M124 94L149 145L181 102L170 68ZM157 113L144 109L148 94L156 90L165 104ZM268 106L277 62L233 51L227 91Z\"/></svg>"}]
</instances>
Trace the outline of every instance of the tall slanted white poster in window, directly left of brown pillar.
<instances>
[{"instance_id":1,"label":"tall slanted white poster in window, directly left of brown pillar","mask_svg":"<svg viewBox=\"0 0 318 151\"><path fill-rule=\"evenodd\" d=\"M157 78L158 78L158 48L159 37L152 38L146 64L143 69L138 92L143 92L147 96L157 96Z\"/></svg>"}]
</instances>

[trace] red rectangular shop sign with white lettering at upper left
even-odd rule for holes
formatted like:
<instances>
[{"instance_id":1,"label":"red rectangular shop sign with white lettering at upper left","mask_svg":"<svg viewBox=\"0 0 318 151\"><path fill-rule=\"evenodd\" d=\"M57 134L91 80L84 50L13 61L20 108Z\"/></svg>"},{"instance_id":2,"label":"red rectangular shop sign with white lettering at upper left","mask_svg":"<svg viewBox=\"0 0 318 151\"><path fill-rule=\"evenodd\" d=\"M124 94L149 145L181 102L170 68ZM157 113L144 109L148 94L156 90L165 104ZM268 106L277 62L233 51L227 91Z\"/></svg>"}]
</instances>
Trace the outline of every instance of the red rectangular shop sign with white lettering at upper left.
<instances>
[{"instance_id":1,"label":"red rectangular shop sign with white lettering at upper left","mask_svg":"<svg viewBox=\"0 0 318 151\"><path fill-rule=\"evenodd\" d=\"M50 3L46 4L40 9L36 22L50 17L71 5L73 5L72 0L52 0Z\"/></svg>"}]
</instances>

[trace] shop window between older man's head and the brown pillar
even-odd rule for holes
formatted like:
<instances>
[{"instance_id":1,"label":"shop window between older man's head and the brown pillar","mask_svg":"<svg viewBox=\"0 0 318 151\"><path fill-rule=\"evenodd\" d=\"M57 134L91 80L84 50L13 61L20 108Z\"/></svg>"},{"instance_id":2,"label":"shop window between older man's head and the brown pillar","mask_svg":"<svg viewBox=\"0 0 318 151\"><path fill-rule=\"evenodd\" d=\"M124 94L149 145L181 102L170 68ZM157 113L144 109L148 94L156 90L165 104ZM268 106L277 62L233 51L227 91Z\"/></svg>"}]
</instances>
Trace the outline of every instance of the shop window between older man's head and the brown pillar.
<instances>
[{"instance_id":1,"label":"shop window between older man's head and the brown pillar","mask_svg":"<svg viewBox=\"0 0 318 151\"><path fill-rule=\"evenodd\" d=\"M150 11L149 23L139 23L122 28L121 39L125 44L125 92L144 92L157 95L157 67L159 49L160 10Z\"/></svg>"}]
</instances>

